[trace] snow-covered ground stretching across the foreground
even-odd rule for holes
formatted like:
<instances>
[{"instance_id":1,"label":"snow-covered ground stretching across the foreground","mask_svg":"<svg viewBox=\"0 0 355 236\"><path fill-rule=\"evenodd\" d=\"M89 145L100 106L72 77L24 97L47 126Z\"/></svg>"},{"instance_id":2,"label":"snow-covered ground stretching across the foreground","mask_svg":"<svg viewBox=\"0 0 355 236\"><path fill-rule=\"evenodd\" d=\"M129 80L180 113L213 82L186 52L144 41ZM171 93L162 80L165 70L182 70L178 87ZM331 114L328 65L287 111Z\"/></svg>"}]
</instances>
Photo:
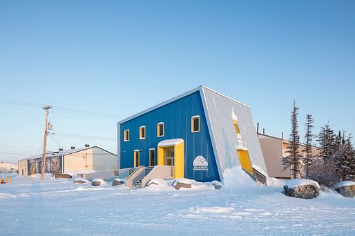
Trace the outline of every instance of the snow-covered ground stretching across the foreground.
<instances>
[{"instance_id":1,"label":"snow-covered ground stretching across the foreground","mask_svg":"<svg viewBox=\"0 0 355 236\"><path fill-rule=\"evenodd\" d=\"M272 182L272 181L270 181ZM274 186L128 189L14 177L0 185L0 235L355 235L355 199Z\"/></svg>"}]
</instances>

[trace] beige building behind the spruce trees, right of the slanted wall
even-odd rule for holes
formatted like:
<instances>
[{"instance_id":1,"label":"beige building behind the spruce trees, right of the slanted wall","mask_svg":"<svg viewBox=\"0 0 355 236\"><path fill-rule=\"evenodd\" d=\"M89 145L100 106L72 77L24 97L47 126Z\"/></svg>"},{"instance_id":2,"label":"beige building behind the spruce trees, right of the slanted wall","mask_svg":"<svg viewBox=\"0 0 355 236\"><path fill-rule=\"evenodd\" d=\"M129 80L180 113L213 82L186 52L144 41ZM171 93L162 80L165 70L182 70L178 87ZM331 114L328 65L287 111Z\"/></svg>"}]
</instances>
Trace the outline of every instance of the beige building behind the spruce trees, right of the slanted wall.
<instances>
[{"instance_id":1,"label":"beige building behind the spruce trees, right of the slanted wall","mask_svg":"<svg viewBox=\"0 0 355 236\"><path fill-rule=\"evenodd\" d=\"M267 166L267 173L269 176L281 179L291 179L290 168L284 170L281 164L282 157L287 156L287 145L289 144L289 141L269 135L259 134L258 136L262 149L262 155L264 155L265 164ZM305 145L300 144L299 151L303 156L305 156L303 148L305 148ZM312 154L319 154L319 150L316 146L313 146ZM303 166L301 167L300 173L305 173Z\"/></svg>"}]
</instances>

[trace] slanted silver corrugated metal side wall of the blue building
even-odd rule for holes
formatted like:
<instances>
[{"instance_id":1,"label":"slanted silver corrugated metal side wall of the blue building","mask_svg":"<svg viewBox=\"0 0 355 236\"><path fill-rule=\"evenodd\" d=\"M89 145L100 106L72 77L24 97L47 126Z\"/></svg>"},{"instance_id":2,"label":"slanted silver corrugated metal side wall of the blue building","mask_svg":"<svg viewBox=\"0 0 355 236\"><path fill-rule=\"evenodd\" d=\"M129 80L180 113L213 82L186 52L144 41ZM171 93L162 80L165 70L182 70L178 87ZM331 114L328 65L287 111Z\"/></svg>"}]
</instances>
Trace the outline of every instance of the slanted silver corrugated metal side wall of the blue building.
<instances>
[{"instance_id":1,"label":"slanted silver corrugated metal side wall of the blue building","mask_svg":"<svg viewBox=\"0 0 355 236\"><path fill-rule=\"evenodd\" d=\"M248 106L224 97L218 92L202 88L207 107L207 119L211 124L211 138L215 144L215 157L222 174L224 170L240 166L237 154L238 138L233 117L238 118L242 143L249 150L251 164L267 173L262 150L256 135L251 110Z\"/></svg>"}]
</instances>

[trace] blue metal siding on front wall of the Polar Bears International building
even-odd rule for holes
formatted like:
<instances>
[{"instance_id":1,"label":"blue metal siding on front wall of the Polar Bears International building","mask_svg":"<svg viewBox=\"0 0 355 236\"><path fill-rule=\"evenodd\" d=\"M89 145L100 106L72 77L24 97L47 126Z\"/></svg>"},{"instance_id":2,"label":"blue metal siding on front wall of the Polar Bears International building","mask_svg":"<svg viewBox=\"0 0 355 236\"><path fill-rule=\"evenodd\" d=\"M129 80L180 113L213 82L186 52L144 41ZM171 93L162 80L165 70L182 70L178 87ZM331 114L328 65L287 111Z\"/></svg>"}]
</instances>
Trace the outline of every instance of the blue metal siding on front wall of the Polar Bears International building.
<instances>
[{"instance_id":1,"label":"blue metal siding on front wall of the Polar Bears International building","mask_svg":"<svg viewBox=\"0 0 355 236\"><path fill-rule=\"evenodd\" d=\"M194 115L200 115L200 132L191 132ZM159 122L164 122L164 137L157 137ZM146 139L139 137L140 126L146 126ZM124 141L126 129L130 130L129 141ZM133 150L137 149L140 150L141 166L149 165L149 148L155 148L157 163L157 144L178 138L184 139L184 177L197 181L220 180L199 91L119 124L120 168L133 166ZM193 170L193 160L198 155L207 159L208 170Z\"/></svg>"}]
</instances>

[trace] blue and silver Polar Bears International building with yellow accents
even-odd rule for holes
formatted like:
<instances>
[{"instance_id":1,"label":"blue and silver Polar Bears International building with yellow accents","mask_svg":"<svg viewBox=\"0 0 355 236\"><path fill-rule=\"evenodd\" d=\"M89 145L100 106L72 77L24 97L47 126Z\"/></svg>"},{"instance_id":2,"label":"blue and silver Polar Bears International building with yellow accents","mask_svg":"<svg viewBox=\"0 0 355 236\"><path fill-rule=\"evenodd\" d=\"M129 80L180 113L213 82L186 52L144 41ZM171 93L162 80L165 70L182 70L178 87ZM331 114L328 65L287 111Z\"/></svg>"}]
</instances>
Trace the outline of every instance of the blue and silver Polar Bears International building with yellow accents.
<instances>
[{"instance_id":1,"label":"blue and silver Polar Bears International building with yellow accents","mask_svg":"<svg viewBox=\"0 0 355 236\"><path fill-rule=\"evenodd\" d=\"M174 177L223 181L267 175L251 110L199 86L118 122L119 168L174 166ZM241 168L240 168L241 167Z\"/></svg>"}]
</instances>

